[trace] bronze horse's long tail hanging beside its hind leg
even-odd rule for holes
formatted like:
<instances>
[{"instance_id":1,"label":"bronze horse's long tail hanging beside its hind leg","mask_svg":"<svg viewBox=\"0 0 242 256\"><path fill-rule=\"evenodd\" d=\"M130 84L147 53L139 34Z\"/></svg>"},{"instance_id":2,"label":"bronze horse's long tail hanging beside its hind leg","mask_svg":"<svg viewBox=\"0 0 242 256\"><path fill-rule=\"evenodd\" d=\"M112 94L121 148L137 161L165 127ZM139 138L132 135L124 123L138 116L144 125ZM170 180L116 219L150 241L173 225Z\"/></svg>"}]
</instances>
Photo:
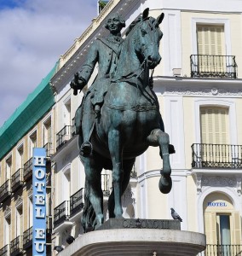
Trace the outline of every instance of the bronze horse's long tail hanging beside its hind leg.
<instances>
[{"instance_id":1,"label":"bronze horse's long tail hanging beside its hind leg","mask_svg":"<svg viewBox=\"0 0 242 256\"><path fill-rule=\"evenodd\" d=\"M95 211L91 202L89 201L89 183L87 181L85 182L82 226L84 229L84 233L95 229Z\"/></svg>"}]
</instances>

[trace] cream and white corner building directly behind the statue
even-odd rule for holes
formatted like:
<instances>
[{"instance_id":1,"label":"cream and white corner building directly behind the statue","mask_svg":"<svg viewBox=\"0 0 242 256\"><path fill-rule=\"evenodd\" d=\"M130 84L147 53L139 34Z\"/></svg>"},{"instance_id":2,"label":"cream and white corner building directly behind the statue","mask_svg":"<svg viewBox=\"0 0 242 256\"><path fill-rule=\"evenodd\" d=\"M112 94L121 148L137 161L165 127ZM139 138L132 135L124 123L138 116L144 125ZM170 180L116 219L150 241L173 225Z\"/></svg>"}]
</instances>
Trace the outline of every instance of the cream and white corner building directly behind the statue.
<instances>
[{"instance_id":1,"label":"cream and white corner building directly behind the statue","mask_svg":"<svg viewBox=\"0 0 242 256\"><path fill-rule=\"evenodd\" d=\"M176 148L176 154L170 156L173 188L169 195L159 192L162 162L158 148L149 148L135 161L136 175L123 197L124 217L171 218L170 207L174 207L183 219L182 230L205 232L207 250L216 252L221 248L218 245L226 244L235 252L242 241L239 0L111 0L61 55L59 70L51 79L56 92L57 133L52 157L55 244L66 246L68 234L82 234L84 166L78 158L78 137L72 136L72 119L84 94L73 96L70 81L82 67L90 44L107 33L103 24L110 12L123 15L127 28L147 7L153 17L164 12L160 45L163 60L154 71L153 89L165 131ZM103 171L102 177L108 195L111 172Z\"/></svg>"}]
</instances>

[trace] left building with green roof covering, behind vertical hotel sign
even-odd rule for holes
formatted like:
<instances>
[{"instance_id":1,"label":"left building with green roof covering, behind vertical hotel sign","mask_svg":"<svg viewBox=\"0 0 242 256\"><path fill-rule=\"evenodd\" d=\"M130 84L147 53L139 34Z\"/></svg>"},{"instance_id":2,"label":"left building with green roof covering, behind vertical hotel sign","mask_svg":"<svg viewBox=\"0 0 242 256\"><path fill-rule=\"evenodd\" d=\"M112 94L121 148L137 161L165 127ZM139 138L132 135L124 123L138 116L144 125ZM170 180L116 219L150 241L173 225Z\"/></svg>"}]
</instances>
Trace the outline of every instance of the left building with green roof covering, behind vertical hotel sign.
<instances>
[{"instance_id":1,"label":"left building with green roof covering, behind vertical hotel sign","mask_svg":"<svg viewBox=\"0 0 242 256\"><path fill-rule=\"evenodd\" d=\"M46 148L47 255L51 255L51 161L55 97L49 79L56 66L0 130L0 255L32 255L33 148Z\"/></svg>"}]
</instances>

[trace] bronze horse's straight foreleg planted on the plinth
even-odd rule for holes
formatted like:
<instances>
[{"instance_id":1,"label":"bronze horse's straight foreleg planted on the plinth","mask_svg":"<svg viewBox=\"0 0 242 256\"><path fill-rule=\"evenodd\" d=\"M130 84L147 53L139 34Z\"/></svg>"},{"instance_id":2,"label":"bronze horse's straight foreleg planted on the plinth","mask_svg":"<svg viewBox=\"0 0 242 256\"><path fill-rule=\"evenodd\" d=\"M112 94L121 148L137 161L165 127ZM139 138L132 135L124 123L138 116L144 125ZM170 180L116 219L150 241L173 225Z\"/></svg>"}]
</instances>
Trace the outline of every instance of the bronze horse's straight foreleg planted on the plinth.
<instances>
[{"instance_id":1,"label":"bronze horse's straight foreleg planted on the plinth","mask_svg":"<svg viewBox=\"0 0 242 256\"><path fill-rule=\"evenodd\" d=\"M114 215L115 218L122 218L123 209L121 204L122 196L122 145L120 131L112 130L108 133L108 148L112 159L112 189L114 193Z\"/></svg>"}]
</instances>

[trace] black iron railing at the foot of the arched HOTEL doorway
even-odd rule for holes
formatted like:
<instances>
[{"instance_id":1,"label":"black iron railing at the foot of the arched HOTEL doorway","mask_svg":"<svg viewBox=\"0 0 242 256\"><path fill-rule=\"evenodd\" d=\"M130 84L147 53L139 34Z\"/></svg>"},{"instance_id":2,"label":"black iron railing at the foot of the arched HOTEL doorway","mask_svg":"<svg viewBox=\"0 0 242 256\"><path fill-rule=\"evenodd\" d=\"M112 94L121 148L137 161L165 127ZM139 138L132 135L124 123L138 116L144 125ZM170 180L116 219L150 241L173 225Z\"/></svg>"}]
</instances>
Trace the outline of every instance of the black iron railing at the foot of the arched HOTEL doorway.
<instances>
[{"instance_id":1,"label":"black iron railing at the foot of the arched HOTEL doorway","mask_svg":"<svg viewBox=\"0 0 242 256\"><path fill-rule=\"evenodd\" d=\"M207 244L203 253L199 256L242 256L242 245L216 245Z\"/></svg>"}]
</instances>

